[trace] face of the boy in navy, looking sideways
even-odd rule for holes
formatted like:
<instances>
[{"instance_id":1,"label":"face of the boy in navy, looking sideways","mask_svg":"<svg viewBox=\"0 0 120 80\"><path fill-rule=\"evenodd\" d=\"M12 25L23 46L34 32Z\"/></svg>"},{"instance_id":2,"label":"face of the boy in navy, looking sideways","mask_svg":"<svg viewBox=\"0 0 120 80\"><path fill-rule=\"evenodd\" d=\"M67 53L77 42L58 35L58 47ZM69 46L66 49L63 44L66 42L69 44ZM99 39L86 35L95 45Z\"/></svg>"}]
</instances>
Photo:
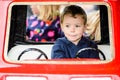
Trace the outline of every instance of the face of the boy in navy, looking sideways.
<instances>
[{"instance_id":1,"label":"face of the boy in navy, looking sideways","mask_svg":"<svg viewBox=\"0 0 120 80\"><path fill-rule=\"evenodd\" d=\"M69 41L77 45L85 30L84 19L81 15L66 14L61 23L62 31Z\"/></svg>"}]
</instances>

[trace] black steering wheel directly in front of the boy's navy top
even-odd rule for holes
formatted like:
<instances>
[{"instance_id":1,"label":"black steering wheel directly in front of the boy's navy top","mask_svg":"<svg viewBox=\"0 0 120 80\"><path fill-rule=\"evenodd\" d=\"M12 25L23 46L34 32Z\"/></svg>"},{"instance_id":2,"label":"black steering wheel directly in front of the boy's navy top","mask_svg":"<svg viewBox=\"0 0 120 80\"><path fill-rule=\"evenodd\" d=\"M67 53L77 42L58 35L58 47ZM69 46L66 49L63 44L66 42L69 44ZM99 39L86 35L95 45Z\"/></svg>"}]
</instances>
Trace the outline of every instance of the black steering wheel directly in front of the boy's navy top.
<instances>
[{"instance_id":1,"label":"black steering wheel directly in front of the boy's navy top","mask_svg":"<svg viewBox=\"0 0 120 80\"><path fill-rule=\"evenodd\" d=\"M102 56L102 60L106 60L106 57L105 57L104 53L103 53L100 49L91 48L91 47L80 49L80 50L76 53L75 58L77 58L77 57L79 56L79 54L81 54L81 52L84 52L84 51L86 51L86 50L87 50L87 51L89 51L89 50L97 51L97 52L99 53L99 56L100 56L100 55Z\"/></svg>"}]
</instances>

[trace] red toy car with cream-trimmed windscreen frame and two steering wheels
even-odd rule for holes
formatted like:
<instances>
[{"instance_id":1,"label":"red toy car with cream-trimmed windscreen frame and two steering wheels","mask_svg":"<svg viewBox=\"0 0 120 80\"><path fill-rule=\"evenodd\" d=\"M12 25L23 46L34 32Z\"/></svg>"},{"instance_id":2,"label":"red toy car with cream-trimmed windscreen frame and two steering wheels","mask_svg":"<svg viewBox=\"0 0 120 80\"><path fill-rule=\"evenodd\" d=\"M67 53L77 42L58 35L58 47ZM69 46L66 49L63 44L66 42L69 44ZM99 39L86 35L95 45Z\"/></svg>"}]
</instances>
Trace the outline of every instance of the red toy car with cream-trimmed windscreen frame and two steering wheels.
<instances>
[{"instance_id":1,"label":"red toy car with cream-trimmed windscreen frame and two steering wheels","mask_svg":"<svg viewBox=\"0 0 120 80\"><path fill-rule=\"evenodd\" d=\"M0 79L119 80L118 3L118 0L1 0ZM54 42L64 36L60 14L65 6L72 4L86 11L88 26L84 36L97 43L100 60L51 59ZM41 22L36 9L41 12ZM46 19L49 9L53 16ZM37 29L30 29L29 24Z\"/></svg>"}]
</instances>

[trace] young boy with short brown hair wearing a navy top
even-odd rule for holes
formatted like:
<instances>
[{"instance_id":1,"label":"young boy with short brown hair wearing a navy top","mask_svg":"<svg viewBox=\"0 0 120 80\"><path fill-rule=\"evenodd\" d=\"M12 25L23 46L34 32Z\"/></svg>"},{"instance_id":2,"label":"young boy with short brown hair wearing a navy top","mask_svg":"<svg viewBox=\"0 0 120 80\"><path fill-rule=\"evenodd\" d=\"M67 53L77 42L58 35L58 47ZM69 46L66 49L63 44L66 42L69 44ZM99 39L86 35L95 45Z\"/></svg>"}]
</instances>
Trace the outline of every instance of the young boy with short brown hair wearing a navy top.
<instances>
[{"instance_id":1,"label":"young boy with short brown hair wearing a navy top","mask_svg":"<svg viewBox=\"0 0 120 80\"><path fill-rule=\"evenodd\" d=\"M97 49L97 45L83 36L86 28L87 15L85 11L77 5L65 7L61 15L61 29L65 37L57 39L52 52L52 59L60 58L96 58L99 59L98 51L89 50ZM78 51L81 49L81 53ZM86 49L85 51L83 51Z\"/></svg>"}]
</instances>

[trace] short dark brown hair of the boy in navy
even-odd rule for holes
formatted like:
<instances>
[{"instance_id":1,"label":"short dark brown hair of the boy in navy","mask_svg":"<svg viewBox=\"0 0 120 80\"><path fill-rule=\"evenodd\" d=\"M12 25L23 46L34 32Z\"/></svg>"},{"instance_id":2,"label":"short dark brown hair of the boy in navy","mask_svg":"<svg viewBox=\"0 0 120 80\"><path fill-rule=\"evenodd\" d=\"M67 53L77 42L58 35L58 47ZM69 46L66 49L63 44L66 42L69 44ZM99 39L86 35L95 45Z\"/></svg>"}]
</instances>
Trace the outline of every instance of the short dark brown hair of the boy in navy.
<instances>
[{"instance_id":1,"label":"short dark brown hair of the boy in navy","mask_svg":"<svg viewBox=\"0 0 120 80\"><path fill-rule=\"evenodd\" d=\"M75 17L76 15L81 15L82 18L84 19L84 24L87 23L87 15L80 6L77 5L66 6L65 9L63 10L63 13L61 14L61 23L63 22L64 16L66 14L71 14L72 17Z\"/></svg>"}]
</instances>

